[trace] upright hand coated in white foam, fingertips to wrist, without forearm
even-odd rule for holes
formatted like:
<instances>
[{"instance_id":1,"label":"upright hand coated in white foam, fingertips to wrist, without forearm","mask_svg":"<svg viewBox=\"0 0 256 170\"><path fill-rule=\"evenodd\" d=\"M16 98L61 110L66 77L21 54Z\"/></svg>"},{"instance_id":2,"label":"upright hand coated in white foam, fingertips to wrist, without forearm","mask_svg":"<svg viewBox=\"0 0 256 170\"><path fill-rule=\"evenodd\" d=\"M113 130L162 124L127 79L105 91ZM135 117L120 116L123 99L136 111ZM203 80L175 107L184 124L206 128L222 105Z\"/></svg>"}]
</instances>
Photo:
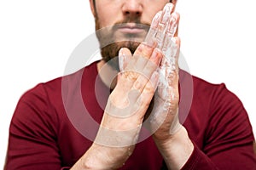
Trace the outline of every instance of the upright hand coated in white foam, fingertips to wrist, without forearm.
<instances>
[{"instance_id":1,"label":"upright hand coated in white foam, fingertips to wrist, without forearm","mask_svg":"<svg viewBox=\"0 0 256 170\"><path fill-rule=\"evenodd\" d=\"M149 119L154 139L165 140L172 137L181 127L178 122L178 55L180 40L174 37L179 14L173 12L172 3L167 3L163 11L155 15L146 42L158 44L164 54L158 72L160 82L154 95L154 107Z\"/></svg>"}]
</instances>

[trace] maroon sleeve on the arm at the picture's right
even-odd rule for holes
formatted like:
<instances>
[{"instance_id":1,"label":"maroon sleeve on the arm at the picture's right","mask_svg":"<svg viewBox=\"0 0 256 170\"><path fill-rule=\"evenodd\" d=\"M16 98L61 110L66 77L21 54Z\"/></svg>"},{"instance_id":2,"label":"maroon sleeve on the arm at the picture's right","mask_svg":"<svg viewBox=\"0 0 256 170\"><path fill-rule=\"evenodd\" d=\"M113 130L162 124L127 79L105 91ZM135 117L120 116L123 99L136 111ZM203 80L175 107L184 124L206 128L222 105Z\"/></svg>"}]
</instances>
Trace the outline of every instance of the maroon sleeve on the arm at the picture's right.
<instances>
[{"instance_id":1,"label":"maroon sleeve on the arm at the picture's right","mask_svg":"<svg viewBox=\"0 0 256 170\"><path fill-rule=\"evenodd\" d=\"M253 130L241 101L224 84L215 88L205 103L208 110L201 149L184 165L187 169L256 169ZM195 94L196 95L196 94ZM207 101L207 99L205 99ZM202 107L202 106L201 106ZM202 123L203 125L203 123Z\"/></svg>"}]
</instances>

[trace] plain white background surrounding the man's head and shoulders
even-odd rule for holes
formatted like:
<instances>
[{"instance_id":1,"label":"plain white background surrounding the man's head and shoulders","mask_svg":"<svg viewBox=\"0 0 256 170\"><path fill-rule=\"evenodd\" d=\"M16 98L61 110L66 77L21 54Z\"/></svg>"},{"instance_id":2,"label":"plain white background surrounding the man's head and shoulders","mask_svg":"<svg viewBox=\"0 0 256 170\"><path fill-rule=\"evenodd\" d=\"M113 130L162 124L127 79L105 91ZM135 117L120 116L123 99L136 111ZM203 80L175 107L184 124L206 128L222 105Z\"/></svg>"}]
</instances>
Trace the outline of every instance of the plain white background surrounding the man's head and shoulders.
<instances>
[{"instance_id":1,"label":"plain white background surrounding the man's head and shoulders","mask_svg":"<svg viewBox=\"0 0 256 170\"><path fill-rule=\"evenodd\" d=\"M177 11L190 72L208 82L225 82L243 102L256 132L253 0L179 0ZM93 31L89 0L1 0L0 168L20 95L62 76L73 49Z\"/></svg>"}]
</instances>

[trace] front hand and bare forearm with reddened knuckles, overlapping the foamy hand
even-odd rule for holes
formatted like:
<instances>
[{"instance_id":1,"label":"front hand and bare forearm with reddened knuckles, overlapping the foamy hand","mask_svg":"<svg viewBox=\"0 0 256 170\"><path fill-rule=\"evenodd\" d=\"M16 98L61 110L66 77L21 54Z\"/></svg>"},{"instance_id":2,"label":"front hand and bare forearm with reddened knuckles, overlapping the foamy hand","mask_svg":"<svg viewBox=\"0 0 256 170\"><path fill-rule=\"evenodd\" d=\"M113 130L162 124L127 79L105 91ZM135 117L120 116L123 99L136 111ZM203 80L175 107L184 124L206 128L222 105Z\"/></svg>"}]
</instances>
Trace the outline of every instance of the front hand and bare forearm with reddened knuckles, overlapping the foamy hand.
<instances>
[{"instance_id":1,"label":"front hand and bare forearm with reddened knuckles, overlapping the foamy hand","mask_svg":"<svg viewBox=\"0 0 256 170\"><path fill-rule=\"evenodd\" d=\"M157 48L141 43L133 55L129 49L122 48L119 58L129 58L129 63L118 74L96 139L81 158L86 169L115 169L131 156L143 116L157 87L157 68L162 59Z\"/></svg>"}]
</instances>

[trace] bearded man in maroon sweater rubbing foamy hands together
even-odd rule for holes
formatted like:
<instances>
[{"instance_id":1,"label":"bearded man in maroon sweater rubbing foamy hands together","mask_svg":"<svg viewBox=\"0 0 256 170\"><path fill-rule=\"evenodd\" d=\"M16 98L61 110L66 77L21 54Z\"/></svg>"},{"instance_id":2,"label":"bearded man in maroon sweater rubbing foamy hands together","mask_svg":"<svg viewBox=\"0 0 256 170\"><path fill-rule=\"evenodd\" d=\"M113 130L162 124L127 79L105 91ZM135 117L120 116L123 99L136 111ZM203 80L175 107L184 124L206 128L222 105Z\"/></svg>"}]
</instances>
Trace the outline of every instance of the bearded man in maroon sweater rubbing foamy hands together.
<instances>
[{"instance_id":1,"label":"bearded man in maroon sweater rubbing foamy hands together","mask_svg":"<svg viewBox=\"0 0 256 170\"><path fill-rule=\"evenodd\" d=\"M5 169L255 169L239 99L223 84L192 77L191 85L178 72L172 4L90 0L103 59L22 96ZM98 128L79 115L80 99Z\"/></svg>"}]
</instances>

